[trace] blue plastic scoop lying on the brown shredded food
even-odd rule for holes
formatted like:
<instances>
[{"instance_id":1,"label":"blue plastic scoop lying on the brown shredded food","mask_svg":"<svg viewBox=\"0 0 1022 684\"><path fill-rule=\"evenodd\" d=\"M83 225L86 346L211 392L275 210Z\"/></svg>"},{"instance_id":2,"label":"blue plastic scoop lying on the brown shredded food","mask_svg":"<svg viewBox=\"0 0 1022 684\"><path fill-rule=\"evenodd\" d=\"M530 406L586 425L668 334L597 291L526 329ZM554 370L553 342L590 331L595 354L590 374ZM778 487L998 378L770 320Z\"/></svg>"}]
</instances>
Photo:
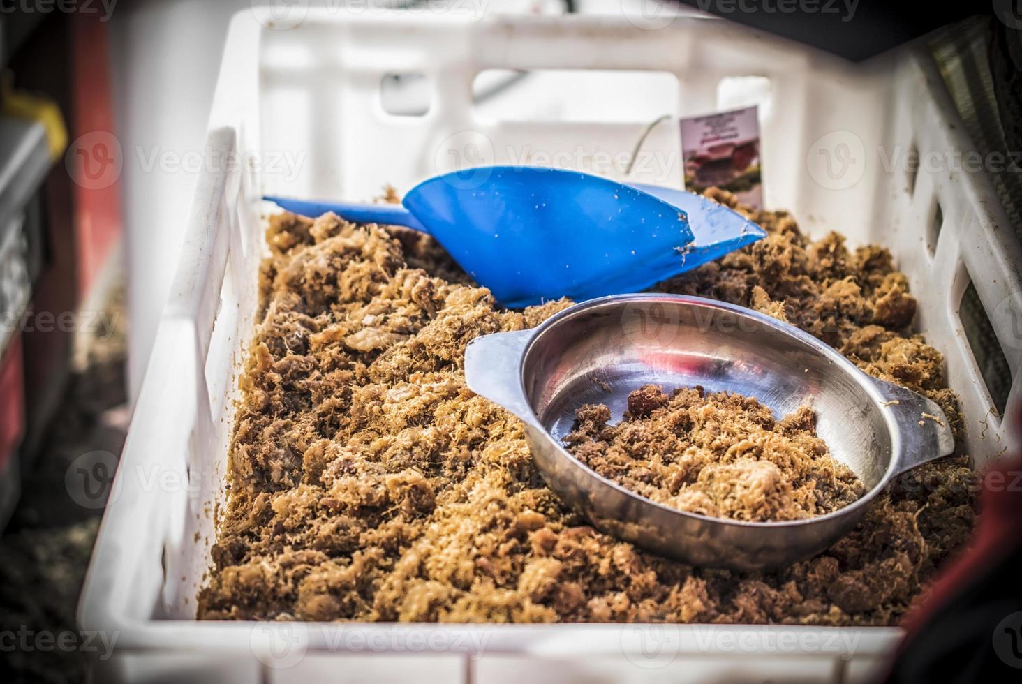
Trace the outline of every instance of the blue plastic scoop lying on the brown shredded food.
<instances>
[{"instance_id":1,"label":"blue plastic scoop lying on the brown shredded food","mask_svg":"<svg viewBox=\"0 0 1022 684\"><path fill-rule=\"evenodd\" d=\"M640 291L765 235L700 195L544 167L437 176L403 207L265 199L312 218L334 212L428 233L507 307Z\"/></svg>"}]
</instances>

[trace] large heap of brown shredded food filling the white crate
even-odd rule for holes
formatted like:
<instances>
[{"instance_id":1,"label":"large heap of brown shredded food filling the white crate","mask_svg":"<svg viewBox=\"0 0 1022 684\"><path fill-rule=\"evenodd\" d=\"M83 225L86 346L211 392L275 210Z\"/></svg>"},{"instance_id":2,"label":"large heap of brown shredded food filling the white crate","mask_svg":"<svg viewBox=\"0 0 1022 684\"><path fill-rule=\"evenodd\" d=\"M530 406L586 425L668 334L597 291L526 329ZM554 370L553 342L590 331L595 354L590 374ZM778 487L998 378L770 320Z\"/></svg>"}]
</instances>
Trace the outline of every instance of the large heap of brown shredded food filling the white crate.
<instances>
[{"instance_id":1,"label":"large heap of brown shredded food filling the white crate","mask_svg":"<svg viewBox=\"0 0 1022 684\"><path fill-rule=\"evenodd\" d=\"M655 289L790 321L961 429L887 250L810 241L784 212L737 209L769 236ZM503 309L401 228L284 214L267 239L201 619L890 625L970 534L973 477L953 457L899 477L851 534L781 571L637 549L566 507L519 421L465 386L470 339L569 302Z\"/></svg>"}]
</instances>

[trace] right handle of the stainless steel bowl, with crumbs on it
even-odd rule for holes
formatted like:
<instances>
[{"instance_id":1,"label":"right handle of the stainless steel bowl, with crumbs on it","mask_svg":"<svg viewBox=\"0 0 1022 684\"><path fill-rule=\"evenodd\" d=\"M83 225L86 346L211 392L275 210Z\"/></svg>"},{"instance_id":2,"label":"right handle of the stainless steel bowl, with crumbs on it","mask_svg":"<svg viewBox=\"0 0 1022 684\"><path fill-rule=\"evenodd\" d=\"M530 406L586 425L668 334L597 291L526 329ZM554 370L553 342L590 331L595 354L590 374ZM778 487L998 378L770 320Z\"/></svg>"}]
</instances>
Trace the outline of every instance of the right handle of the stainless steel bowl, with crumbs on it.
<instances>
[{"instance_id":1,"label":"right handle of the stainless steel bowl, with crumbs on it","mask_svg":"<svg viewBox=\"0 0 1022 684\"><path fill-rule=\"evenodd\" d=\"M955 451L955 437L947 416L934 402L912 390L871 377L887 400L900 435L900 449L894 454L898 473L947 456Z\"/></svg>"}]
</instances>

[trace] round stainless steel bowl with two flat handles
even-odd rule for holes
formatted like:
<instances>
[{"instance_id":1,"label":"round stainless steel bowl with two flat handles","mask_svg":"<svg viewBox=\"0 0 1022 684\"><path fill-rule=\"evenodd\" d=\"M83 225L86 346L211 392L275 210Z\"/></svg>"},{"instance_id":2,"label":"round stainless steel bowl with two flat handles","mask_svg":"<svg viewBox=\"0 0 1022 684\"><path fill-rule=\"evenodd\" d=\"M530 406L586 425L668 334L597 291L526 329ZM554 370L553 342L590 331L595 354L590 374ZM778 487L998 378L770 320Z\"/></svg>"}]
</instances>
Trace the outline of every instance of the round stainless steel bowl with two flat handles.
<instances>
[{"instance_id":1,"label":"round stainless steel bowl with two flat handles","mask_svg":"<svg viewBox=\"0 0 1022 684\"><path fill-rule=\"evenodd\" d=\"M737 569L783 565L848 533L891 477L946 456L955 443L930 400L867 375L812 335L722 302L620 294L566 309L543 325L473 339L468 386L518 416L548 485L593 523L688 563ZM745 522L654 503L584 465L563 446L574 411L606 404L620 419L629 394L702 385L755 397L780 417L803 404L817 431L866 494L819 517Z\"/></svg>"}]
</instances>

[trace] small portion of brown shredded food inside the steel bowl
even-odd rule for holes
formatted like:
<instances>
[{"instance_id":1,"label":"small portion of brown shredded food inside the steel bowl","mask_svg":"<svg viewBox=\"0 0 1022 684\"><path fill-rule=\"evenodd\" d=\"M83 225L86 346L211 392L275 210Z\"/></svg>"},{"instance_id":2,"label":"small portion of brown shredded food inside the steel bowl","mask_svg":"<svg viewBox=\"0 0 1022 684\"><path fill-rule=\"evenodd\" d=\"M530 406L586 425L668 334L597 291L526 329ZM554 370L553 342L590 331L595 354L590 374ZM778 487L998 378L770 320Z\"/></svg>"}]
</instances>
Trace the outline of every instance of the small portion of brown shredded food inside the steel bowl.
<instances>
[{"instance_id":1,"label":"small portion of brown shredded food inside the steel bowl","mask_svg":"<svg viewBox=\"0 0 1022 684\"><path fill-rule=\"evenodd\" d=\"M575 411L567 449L604 477L657 503L753 522L826 515L863 496L863 483L817 436L817 416L800 406L781 420L753 397L700 387L668 395L647 384L628 410Z\"/></svg>"}]
</instances>

